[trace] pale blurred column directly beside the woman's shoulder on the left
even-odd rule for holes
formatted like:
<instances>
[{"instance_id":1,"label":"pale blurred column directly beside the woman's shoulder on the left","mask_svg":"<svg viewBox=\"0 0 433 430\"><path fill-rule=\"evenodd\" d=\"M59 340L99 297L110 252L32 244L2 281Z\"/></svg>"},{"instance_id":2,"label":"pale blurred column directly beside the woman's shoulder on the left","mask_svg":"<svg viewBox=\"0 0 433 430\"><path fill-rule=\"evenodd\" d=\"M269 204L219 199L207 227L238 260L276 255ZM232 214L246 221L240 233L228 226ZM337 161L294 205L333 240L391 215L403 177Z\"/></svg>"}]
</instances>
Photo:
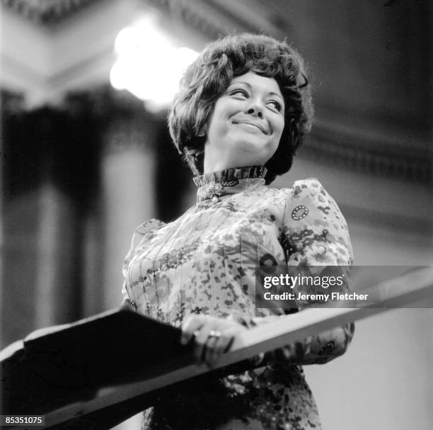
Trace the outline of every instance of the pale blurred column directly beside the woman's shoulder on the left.
<instances>
[{"instance_id":1,"label":"pale blurred column directly beside the woman's shoulder on the left","mask_svg":"<svg viewBox=\"0 0 433 430\"><path fill-rule=\"evenodd\" d=\"M144 108L117 113L105 131L101 160L104 310L122 301L122 264L135 228L156 216L155 133L156 123Z\"/></svg>"}]
</instances>

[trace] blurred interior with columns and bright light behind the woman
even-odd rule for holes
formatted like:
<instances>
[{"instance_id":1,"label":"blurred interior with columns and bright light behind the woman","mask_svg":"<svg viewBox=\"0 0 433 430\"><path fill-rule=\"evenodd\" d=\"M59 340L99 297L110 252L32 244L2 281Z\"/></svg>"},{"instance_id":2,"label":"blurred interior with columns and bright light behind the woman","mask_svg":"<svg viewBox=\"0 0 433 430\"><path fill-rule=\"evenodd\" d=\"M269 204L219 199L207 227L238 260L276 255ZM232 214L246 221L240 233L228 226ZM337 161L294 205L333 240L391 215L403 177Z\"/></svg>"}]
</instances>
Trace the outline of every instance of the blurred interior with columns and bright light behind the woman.
<instances>
[{"instance_id":1,"label":"blurred interior with columns and bright light behind the woman","mask_svg":"<svg viewBox=\"0 0 433 430\"><path fill-rule=\"evenodd\" d=\"M431 265L429 0L1 0L0 349L120 305L134 228L195 203L166 127L210 40L265 31L306 59L316 123L288 174L318 178L357 265ZM306 366L324 430L433 427L433 311L357 324ZM122 425L137 428L137 419Z\"/></svg>"}]
</instances>

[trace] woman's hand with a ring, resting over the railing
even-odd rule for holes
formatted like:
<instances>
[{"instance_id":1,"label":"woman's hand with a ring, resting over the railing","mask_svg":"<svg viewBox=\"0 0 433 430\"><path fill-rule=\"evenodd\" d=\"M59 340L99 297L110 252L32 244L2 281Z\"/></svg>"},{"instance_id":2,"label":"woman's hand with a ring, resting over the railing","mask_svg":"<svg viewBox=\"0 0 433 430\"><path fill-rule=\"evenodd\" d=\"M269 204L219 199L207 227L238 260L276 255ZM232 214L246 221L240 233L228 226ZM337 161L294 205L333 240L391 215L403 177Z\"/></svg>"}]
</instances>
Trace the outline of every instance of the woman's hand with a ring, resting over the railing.
<instances>
[{"instance_id":1,"label":"woman's hand with a ring, resting over the railing","mask_svg":"<svg viewBox=\"0 0 433 430\"><path fill-rule=\"evenodd\" d=\"M213 368L221 355L230 350L235 337L244 330L246 327L233 319L192 315L183 324L180 343L185 345L194 338L197 363L206 363Z\"/></svg>"}]
</instances>

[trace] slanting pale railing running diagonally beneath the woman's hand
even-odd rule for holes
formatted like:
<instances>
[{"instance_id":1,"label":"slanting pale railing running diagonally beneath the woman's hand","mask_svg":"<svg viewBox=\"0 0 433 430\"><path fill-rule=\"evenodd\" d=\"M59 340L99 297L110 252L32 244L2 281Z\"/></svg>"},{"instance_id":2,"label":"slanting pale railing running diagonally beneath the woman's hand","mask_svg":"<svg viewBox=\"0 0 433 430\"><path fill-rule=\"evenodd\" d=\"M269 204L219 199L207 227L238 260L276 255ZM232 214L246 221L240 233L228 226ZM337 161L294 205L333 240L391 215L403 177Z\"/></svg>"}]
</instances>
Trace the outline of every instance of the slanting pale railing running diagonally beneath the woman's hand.
<instances>
[{"instance_id":1,"label":"slanting pale railing running diagonally beneath the woman's hand","mask_svg":"<svg viewBox=\"0 0 433 430\"><path fill-rule=\"evenodd\" d=\"M230 369L233 364L257 356L258 353L301 341L307 336L347 322L398 307L408 307L411 303L419 303L422 300L432 300L433 266L417 268L398 278L374 285L363 293L369 291L374 291L376 296L379 291L381 300L373 304L359 302L357 307L353 308L340 307L341 303L337 302L333 307L307 309L294 315L279 317L275 322L244 332L236 339L232 350L224 354L217 368L212 371L224 372L224 369ZM147 374L145 378L140 378L137 375L134 382L101 387L90 400L68 404L45 414L45 428L63 428L64 423L71 420L77 421L76 425L81 422L82 425L90 425L93 429L114 426L145 409L146 403L150 404L149 396L163 392L188 378L200 377L206 373L209 373L209 369L205 366L189 364L172 368L156 377L149 377Z\"/></svg>"}]
</instances>

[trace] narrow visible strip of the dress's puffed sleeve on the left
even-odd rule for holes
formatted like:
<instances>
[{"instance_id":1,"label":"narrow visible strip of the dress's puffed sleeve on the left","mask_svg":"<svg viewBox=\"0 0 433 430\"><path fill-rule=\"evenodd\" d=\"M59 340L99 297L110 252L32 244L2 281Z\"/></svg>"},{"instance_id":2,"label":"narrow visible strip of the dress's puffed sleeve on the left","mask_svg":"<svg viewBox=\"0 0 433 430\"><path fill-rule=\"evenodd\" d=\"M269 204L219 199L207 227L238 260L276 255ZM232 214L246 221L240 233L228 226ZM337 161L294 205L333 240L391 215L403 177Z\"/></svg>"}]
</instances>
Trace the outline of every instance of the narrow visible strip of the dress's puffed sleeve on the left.
<instances>
[{"instance_id":1,"label":"narrow visible strip of the dress's puffed sleeve on the left","mask_svg":"<svg viewBox=\"0 0 433 430\"><path fill-rule=\"evenodd\" d=\"M122 266L122 273L125 278L122 286L122 305L121 307L132 307L134 310L137 310L137 305L134 302L134 298L132 297L131 290L129 289L129 264L131 263L132 256L134 256L134 251L137 249L139 244L142 242L143 238L146 236L148 239L151 238L151 235L154 234L156 230L166 225L165 222L160 220L147 220L140 224L132 234L131 248L129 252L125 256L125 261Z\"/></svg>"}]
</instances>

